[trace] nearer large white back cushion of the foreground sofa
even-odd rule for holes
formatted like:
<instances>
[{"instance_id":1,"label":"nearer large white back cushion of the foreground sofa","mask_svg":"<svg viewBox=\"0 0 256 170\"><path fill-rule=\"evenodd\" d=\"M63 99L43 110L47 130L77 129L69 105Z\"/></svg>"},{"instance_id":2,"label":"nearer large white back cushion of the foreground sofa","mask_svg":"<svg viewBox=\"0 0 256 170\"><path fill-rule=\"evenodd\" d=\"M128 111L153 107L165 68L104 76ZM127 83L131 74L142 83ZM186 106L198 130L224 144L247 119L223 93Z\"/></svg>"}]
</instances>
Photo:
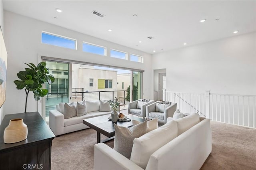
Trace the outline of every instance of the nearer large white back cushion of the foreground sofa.
<instances>
[{"instance_id":1,"label":"nearer large white back cushion of the foreground sofa","mask_svg":"<svg viewBox=\"0 0 256 170\"><path fill-rule=\"evenodd\" d=\"M175 121L170 121L139 138L135 138L130 160L145 169L150 155L172 139L176 138L177 133L177 123Z\"/></svg>"}]
</instances>

